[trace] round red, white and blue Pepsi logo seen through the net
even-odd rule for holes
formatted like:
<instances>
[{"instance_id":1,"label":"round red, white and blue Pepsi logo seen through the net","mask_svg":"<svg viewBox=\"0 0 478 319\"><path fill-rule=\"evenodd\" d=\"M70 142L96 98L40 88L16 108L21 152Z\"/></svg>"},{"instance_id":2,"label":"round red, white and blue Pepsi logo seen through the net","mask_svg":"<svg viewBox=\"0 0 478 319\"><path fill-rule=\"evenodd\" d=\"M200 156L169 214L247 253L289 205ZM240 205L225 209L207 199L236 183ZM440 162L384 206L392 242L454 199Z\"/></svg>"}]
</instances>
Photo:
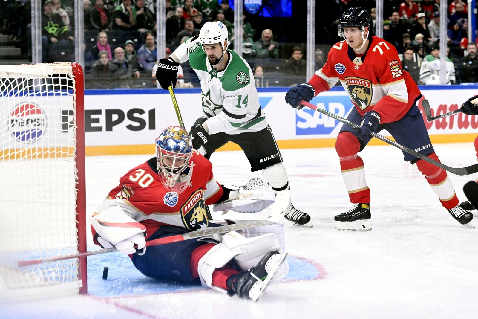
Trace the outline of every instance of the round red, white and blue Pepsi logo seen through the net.
<instances>
[{"instance_id":1,"label":"round red, white and blue Pepsi logo seen through the net","mask_svg":"<svg viewBox=\"0 0 478 319\"><path fill-rule=\"evenodd\" d=\"M20 142L34 142L46 130L46 114L33 103L21 103L11 110L8 129Z\"/></svg>"}]
</instances>

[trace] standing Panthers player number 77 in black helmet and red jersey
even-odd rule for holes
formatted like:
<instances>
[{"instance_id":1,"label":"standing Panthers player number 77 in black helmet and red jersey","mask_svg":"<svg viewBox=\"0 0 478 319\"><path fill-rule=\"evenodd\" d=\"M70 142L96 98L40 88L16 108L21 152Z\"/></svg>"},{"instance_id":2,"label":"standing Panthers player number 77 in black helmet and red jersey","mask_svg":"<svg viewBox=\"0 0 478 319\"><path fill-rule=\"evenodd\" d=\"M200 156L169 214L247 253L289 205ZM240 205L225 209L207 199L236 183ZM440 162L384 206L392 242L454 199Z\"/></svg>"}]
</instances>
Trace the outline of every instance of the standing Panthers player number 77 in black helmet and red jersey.
<instances>
[{"instance_id":1,"label":"standing Panthers player number 77 in black helmet and red jersey","mask_svg":"<svg viewBox=\"0 0 478 319\"><path fill-rule=\"evenodd\" d=\"M438 161L416 101L421 93L412 77L402 70L395 47L369 35L370 18L363 8L350 8L340 18L339 34L345 39L332 46L327 62L308 83L291 88L285 101L301 107L337 81L348 92L355 108L348 120L361 123L361 129L343 125L336 150L340 168L353 207L335 216L338 230L371 229L370 189L365 181L364 164L358 152L369 142L370 132L386 129L395 141ZM446 171L403 152L405 161L416 164L440 202L461 224L473 216L458 204L455 189Z\"/></svg>"}]
</instances>

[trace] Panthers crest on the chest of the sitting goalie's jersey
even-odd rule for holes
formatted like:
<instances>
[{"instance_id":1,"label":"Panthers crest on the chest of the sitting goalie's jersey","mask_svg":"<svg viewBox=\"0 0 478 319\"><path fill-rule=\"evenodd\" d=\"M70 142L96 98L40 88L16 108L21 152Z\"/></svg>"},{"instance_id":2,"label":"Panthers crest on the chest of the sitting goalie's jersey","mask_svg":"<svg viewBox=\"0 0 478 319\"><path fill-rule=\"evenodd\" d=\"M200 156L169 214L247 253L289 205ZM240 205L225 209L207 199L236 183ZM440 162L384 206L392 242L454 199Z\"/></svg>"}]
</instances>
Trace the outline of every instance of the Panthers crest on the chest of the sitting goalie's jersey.
<instances>
[{"instance_id":1,"label":"Panthers crest on the chest of the sitting goalie's jersey","mask_svg":"<svg viewBox=\"0 0 478 319\"><path fill-rule=\"evenodd\" d=\"M183 207L181 207L181 215L183 217L183 224L188 231L197 230L209 225L202 189L193 193L185 202Z\"/></svg>"}]
</instances>

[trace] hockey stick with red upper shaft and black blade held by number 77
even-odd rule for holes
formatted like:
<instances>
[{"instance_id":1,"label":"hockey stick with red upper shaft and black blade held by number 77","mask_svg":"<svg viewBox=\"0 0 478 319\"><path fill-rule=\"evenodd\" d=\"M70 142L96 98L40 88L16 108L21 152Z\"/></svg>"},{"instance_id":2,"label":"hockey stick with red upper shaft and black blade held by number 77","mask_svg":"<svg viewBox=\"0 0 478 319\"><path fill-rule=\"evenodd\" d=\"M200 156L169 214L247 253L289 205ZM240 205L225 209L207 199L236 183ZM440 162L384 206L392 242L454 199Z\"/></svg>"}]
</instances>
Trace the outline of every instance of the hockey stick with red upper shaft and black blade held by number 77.
<instances>
[{"instance_id":1,"label":"hockey stick with red upper shaft and black blade held by number 77","mask_svg":"<svg viewBox=\"0 0 478 319\"><path fill-rule=\"evenodd\" d=\"M334 113L331 113L331 112L329 112L329 111L327 111L327 110L321 109L321 108L317 107L316 105L311 104L311 103L309 103L309 102L301 101L300 104L302 104L302 105L304 105L304 106L306 106L306 107L308 107L308 108L311 108L312 110L316 110L317 112L320 112L320 113L322 113L322 114L325 114L325 115L327 115L327 116L330 116L331 118L336 119L337 121L340 121L340 122L342 122L342 123L345 123L345 124L347 124L347 125L350 125L350 126L353 127L354 129L359 129L359 128L361 128L360 125L355 124L355 123L353 123L353 122L351 122L351 121L348 121L348 120L346 120L346 119L344 119L344 118L338 116L337 114L334 114ZM380 135L380 134L371 132L371 133L370 133L370 136L373 136L373 137L375 137L375 138L378 138L380 141L383 141L383 142L385 142L385 143L389 143L390 145L393 145L393 146L395 146L395 147L401 149L403 152L407 152L408 154L412 154L413 156L416 156L416 157L418 157L418 158L420 158L420 159L423 159L424 161L427 161L428 163L432 163L432 164L435 165L435 166L441 167L441 168L445 169L446 171L448 171L448 172L450 172L450 173L453 173L453 174L455 174L455 175L463 176L463 175L469 175L469 174L474 174L474 173L478 172L478 164L471 165L471 166L467 166L467 167L457 167L457 168L455 168L455 167L450 167L450 166L447 166L447 165L442 164L442 163L440 163L440 162L437 162L437 161L431 159L430 157L427 157L427 156L425 156L425 155L423 155L423 154L420 154L420 153L418 153L418 152L416 152L416 151L414 151L414 150L412 150L412 149L410 149L410 148L408 148L408 147L405 147L405 146L403 146L403 145L401 145L401 144L399 144L399 143L397 143L397 142L395 142L395 141L392 141L392 140L390 140L390 139L388 139L388 138L386 138L385 136L382 136L382 135Z\"/></svg>"}]
</instances>

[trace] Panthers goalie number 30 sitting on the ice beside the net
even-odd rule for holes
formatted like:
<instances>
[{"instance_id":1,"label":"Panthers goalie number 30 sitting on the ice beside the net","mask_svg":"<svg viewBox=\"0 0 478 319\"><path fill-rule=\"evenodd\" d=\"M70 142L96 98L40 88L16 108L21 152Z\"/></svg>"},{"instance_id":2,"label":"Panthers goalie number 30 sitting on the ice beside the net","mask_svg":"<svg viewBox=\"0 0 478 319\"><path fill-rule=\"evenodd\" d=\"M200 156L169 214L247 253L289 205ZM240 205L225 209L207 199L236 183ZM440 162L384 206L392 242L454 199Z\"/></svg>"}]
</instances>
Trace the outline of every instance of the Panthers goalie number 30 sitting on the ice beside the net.
<instances>
[{"instance_id":1,"label":"Panthers goalie number 30 sitting on the ice beside the net","mask_svg":"<svg viewBox=\"0 0 478 319\"><path fill-rule=\"evenodd\" d=\"M121 177L91 218L94 242L129 254L148 277L200 281L229 295L257 300L269 274L277 279L288 271L274 233L245 238L231 231L220 236L219 243L188 240L145 247L146 241L214 226L206 205L237 195L237 190L215 181L211 163L193 150L187 132L168 127L156 139L156 157Z\"/></svg>"}]
</instances>

